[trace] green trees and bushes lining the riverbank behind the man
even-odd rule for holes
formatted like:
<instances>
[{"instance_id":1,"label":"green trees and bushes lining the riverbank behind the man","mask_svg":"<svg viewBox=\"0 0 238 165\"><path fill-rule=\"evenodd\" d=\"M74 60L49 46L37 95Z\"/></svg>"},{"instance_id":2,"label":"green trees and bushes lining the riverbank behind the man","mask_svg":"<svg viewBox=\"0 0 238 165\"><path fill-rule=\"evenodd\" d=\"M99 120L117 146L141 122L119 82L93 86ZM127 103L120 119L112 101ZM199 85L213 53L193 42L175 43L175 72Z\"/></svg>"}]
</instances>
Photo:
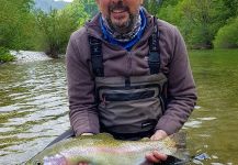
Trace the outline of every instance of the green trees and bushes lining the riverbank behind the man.
<instances>
[{"instance_id":1,"label":"green trees and bushes lining the riverbank behind the man","mask_svg":"<svg viewBox=\"0 0 238 165\"><path fill-rule=\"evenodd\" d=\"M70 34L92 18L94 0L43 12L33 0L0 0L0 47L65 53ZM146 0L157 18L179 28L189 48L238 47L238 0Z\"/></svg>"}]
</instances>

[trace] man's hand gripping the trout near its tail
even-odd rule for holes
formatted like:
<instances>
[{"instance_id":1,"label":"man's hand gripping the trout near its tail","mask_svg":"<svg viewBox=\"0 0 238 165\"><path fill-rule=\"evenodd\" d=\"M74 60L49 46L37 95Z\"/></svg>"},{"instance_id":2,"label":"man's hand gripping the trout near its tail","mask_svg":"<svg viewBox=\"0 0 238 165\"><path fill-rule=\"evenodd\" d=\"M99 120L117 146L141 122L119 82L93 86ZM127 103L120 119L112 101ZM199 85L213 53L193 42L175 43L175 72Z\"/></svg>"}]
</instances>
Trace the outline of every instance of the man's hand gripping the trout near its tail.
<instances>
[{"instance_id":1,"label":"man's hand gripping the trout near its tail","mask_svg":"<svg viewBox=\"0 0 238 165\"><path fill-rule=\"evenodd\" d=\"M157 130L156 133L150 138L150 140L161 140L167 138L168 134L163 130ZM159 163L161 161L167 160L167 155L159 153L158 151L154 151L151 153L146 154L146 158L152 163Z\"/></svg>"}]
</instances>

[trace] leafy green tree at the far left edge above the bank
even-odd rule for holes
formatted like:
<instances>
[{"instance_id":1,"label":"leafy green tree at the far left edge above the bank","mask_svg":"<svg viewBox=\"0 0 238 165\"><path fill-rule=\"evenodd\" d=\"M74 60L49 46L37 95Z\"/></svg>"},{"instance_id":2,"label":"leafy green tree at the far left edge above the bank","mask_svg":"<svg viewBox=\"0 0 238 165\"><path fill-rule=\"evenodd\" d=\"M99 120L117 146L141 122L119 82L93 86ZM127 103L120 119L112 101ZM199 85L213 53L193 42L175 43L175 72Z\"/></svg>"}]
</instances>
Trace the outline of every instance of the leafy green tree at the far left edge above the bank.
<instances>
[{"instance_id":1,"label":"leafy green tree at the far left edge above the bank","mask_svg":"<svg viewBox=\"0 0 238 165\"><path fill-rule=\"evenodd\" d=\"M0 0L0 45L10 50L33 47L32 0Z\"/></svg>"}]
</instances>

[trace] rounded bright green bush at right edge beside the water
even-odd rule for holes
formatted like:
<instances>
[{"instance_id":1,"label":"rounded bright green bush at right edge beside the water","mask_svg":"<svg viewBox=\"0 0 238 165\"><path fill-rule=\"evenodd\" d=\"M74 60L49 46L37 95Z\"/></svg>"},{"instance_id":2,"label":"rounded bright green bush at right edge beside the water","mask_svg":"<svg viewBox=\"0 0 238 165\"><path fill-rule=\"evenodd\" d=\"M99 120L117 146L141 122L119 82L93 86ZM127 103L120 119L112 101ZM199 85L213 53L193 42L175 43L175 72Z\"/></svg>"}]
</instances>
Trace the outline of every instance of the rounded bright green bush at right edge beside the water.
<instances>
[{"instance_id":1,"label":"rounded bright green bush at right edge beside the water","mask_svg":"<svg viewBox=\"0 0 238 165\"><path fill-rule=\"evenodd\" d=\"M231 20L218 31L214 46L217 48L238 47L238 18Z\"/></svg>"}]
</instances>

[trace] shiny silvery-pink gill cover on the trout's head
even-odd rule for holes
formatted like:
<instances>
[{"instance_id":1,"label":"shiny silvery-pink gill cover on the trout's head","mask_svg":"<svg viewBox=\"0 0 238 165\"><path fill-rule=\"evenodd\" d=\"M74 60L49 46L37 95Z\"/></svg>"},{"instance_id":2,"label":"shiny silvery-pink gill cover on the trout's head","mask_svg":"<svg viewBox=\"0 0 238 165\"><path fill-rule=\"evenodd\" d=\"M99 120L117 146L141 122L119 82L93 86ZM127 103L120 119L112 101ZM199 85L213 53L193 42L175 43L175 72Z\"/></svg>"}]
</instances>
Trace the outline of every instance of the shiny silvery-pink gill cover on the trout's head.
<instances>
[{"instance_id":1,"label":"shiny silvery-pink gill cover on the trout's head","mask_svg":"<svg viewBox=\"0 0 238 165\"><path fill-rule=\"evenodd\" d=\"M56 154L54 156L46 156L43 160L44 165L67 165L67 160L61 154Z\"/></svg>"}]
</instances>

